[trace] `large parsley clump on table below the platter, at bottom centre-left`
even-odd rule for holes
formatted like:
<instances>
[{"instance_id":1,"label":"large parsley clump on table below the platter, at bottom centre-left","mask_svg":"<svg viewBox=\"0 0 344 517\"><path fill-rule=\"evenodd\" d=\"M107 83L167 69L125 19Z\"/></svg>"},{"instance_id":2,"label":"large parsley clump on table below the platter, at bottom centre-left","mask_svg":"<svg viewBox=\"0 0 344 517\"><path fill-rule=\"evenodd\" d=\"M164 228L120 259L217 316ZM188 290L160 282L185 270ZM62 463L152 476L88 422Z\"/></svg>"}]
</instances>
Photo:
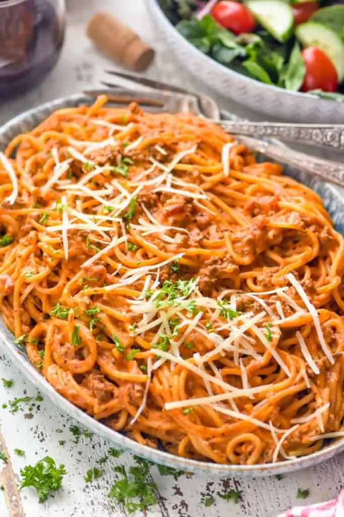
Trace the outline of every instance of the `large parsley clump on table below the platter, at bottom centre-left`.
<instances>
[{"instance_id":1,"label":"large parsley clump on table below the platter, at bottom centre-left","mask_svg":"<svg viewBox=\"0 0 344 517\"><path fill-rule=\"evenodd\" d=\"M157 503L156 484L149 478L149 463L140 459L136 461L138 465L130 467L128 473L124 465L114 468L120 478L108 493L116 503L123 504L128 513L144 511Z\"/></svg>"}]
</instances>

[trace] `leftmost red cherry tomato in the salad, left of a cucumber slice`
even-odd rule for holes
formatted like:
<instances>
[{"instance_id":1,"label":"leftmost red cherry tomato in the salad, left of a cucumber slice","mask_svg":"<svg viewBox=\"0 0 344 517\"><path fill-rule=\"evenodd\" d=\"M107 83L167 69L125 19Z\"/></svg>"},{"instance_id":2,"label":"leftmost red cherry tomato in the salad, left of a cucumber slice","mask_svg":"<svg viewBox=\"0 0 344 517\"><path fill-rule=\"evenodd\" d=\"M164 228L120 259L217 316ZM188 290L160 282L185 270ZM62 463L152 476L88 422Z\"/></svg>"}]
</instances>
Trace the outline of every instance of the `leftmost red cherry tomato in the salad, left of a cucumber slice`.
<instances>
[{"instance_id":1,"label":"leftmost red cherry tomato in the salad, left of a cucumber slice","mask_svg":"<svg viewBox=\"0 0 344 517\"><path fill-rule=\"evenodd\" d=\"M222 27L230 29L235 34L250 33L256 25L253 14L238 2L219 2L211 10L211 14Z\"/></svg>"}]
</instances>

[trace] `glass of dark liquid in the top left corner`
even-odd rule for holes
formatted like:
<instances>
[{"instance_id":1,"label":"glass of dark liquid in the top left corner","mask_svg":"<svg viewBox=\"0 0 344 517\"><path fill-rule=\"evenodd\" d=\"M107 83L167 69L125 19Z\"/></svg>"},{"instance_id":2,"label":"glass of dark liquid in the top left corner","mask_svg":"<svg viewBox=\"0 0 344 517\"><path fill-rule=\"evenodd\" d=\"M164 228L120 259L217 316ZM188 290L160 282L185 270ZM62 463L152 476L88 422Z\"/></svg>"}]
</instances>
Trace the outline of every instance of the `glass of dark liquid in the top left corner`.
<instances>
[{"instance_id":1,"label":"glass of dark liquid in the top left corner","mask_svg":"<svg viewBox=\"0 0 344 517\"><path fill-rule=\"evenodd\" d=\"M42 81L58 60L63 36L63 21L47 0L0 0L0 102Z\"/></svg>"}]
</instances>

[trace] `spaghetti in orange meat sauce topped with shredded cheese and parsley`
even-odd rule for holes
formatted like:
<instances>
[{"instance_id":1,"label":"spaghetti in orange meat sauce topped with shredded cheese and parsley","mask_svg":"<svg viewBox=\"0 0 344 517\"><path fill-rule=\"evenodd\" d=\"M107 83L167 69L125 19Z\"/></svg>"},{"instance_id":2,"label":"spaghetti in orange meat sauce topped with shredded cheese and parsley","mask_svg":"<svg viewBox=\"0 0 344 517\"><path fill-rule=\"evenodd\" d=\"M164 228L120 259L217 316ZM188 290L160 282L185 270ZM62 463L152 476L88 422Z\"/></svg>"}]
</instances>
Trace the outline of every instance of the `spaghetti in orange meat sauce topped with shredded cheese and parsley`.
<instances>
[{"instance_id":1,"label":"spaghetti in orange meat sauce topped with shredded cheese and parsley","mask_svg":"<svg viewBox=\"0 0 344 517\"><path fill-rule=\"evenodd\" d=\"M203 119L106 101L0 154L0 306L31 363L188 458L344 435L344 240L319 197Z\"/></svg>"}]
</instances>

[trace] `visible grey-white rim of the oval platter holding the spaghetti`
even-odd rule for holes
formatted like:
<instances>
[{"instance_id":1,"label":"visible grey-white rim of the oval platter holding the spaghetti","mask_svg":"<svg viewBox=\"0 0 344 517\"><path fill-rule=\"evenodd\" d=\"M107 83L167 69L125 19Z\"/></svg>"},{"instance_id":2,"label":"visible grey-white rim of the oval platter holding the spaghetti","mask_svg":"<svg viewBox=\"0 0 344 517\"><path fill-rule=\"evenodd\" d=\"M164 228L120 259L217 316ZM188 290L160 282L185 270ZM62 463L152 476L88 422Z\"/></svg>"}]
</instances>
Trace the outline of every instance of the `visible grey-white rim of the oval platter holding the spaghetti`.
<instances>
[{"instance_id":1,"label":"visible grey-white rim of the oval platter holding the spaghetti","mask_svg":"<svg viewBox=\"0 0 344 517\"><path fill-rule=\"evenodd\" d=\"M8 142L17 134L26 132L37 126L42 120L55 110L65 107L77 106L80 104L90 104L92 100L84 95L73 95L52 102L42 104L38 108L31 109L13 118L0 128L0 149L4 150ZM230 113L222 112L225 119L237 118ZM281 144L282 145L282 144ZM328 184L320 183L312 177L300 171L285 168L285 173L301 181L301 183L314 189L322 198L326 209L332 216L336 229L344 234L344 197L339 191ZM5 355L11 359L13 364L21 370L23 375L34 384L41 392L49 397L56 406L64 413L75 418L78 422L95 434L105 438L111 444L120 449L125 449L137 454L138 456L155 463L167 465L178 470L187 472L203 472L214 476L237 476L237 477L257 477L270 476L277 474L290 473L294 470L316 465L324 460L332 458L335 454L344 450L344 439L329 443L322 450L310 454L307 457L290 460L287 462L259 464L259 465L219 465L216 463L195 461L180 458L169 454L162 448L152 449L140 445L125 435L107 428L102 422L94 420L83 410L74 406L67 399L64 399L55 389L44 379L44 377L32 366L28 360L25 349L19 348L14 343L13 334L6 328L0 318L0 346Z\"/></svg>"}]
</instances>

